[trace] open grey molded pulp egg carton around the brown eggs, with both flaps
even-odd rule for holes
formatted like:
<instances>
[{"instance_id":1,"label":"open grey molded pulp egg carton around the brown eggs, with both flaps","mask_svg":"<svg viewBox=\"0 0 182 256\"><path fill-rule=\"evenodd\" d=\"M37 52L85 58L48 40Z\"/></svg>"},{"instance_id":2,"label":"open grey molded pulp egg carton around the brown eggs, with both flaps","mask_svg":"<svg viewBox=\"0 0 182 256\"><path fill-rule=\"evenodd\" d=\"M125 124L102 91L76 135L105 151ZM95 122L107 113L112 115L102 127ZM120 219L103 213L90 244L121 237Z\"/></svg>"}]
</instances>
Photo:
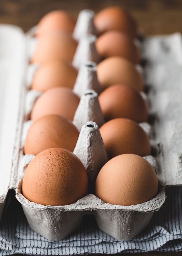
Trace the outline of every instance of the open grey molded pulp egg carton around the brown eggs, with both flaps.
<instances>
[{"instance_id":1,"label":"open grey molded pulp egg carton around the brown eggs, with both flaps","mask_svg":"<svg viewBox=\"0 0 182 256\"><path fill-rule=\"evenodd\" d=\"M86 10L81 15L85 16L85 20L88 19L87 23L81 24L88 25L94 14ZM93 189L98 171L107 162L107 154L98 128L104 119L97 97L100 87L96 74L98 59L94 55L96 35L91 35L92 31L88 29L90 26L84 26L85 28L78 29L89 33L84 37L85 41L78 44L78 48L81 44L85 45L84 48L81 47L84 49L84 54L80 55L83 59L80 61L81 57L78 58L76 51L73 61L75 66L80 67L74 91L81 96L74 117L74 124L81 130L74 153L84 163L89 186ZM0 217L7 192L13 189L30 227L49 240L60 240L73 232L79 227L85 214L94 215L98 227L116 239L131 239L145 229L153 213L162 207L165 186L182 184L181 35L175 33L147 37L139 44L142 56L148 62L141 70L147 89L142 95L149 106L150 116L153 117L150 124L140 125L147 132L155 152L154 156L145 158L157 172L159 191L156 197L139 205L120 206L106 204L94 194L88 194L71 205L43 206L28 201L21 194L22 177L26 166L34 157L24 155L24 140L31 125L31 108L40 95L29 89L37 68L29 65L29 56L36 44L32 37L34 29L36 28L24 34L16 26L0 25ZM80 38L79 35L78 37ZM84 59L85 56L87 59ZM85 92L79 89L79 80L86 84ZM91 81L91 86L88 81ZM85 119L81 118L83 116Z\"/></svg>"}]
</instances>

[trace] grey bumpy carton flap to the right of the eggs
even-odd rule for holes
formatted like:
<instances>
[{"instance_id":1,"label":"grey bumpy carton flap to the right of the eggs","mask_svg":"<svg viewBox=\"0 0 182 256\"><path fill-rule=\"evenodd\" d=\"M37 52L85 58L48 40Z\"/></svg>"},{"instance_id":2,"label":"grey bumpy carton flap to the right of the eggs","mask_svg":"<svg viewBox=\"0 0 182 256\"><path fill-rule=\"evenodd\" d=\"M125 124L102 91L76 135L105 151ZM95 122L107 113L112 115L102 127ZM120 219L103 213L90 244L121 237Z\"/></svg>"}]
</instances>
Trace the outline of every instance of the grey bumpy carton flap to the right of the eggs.
<instances>
[{"instance_id":1,"label":"grey bumpy carton flap to the right of the eggs","mask_svg":"<svg viewBox=\"0 0 182 256\"><path fill-rule=\"evenodd\" d=\"M153 125L158 176L164 186L182 184L182 37L180 33L147 37L141 47L147 100Z\"/></svg>"}]
</instances>

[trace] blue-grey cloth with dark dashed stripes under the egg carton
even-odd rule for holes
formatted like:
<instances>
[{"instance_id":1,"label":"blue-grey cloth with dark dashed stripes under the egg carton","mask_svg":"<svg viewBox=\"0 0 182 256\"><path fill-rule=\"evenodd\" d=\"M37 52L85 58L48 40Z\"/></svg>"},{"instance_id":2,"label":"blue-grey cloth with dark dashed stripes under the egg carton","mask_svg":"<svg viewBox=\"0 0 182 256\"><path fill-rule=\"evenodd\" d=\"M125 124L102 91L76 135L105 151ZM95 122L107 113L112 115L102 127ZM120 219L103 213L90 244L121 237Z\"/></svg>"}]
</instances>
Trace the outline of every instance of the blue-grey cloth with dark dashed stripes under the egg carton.
<instances>
[{"instance_id":1,"label":"blue-grey cloth with dark dashed stripes under the egg carton","mask_svg":"<svg viewBox=\"0 0 182 256\"><path fill-rule=\"evenodd\" d=\"M163 207L154 213L147 229L132 240L114 239L98 229L94 216L85 215L76 232L61 241L48 241L30 229L13 194L13 202L7 207L0 226L0 255L182 251L182 187L168 187L166 195Z\"/></svg>"}]
</instances>

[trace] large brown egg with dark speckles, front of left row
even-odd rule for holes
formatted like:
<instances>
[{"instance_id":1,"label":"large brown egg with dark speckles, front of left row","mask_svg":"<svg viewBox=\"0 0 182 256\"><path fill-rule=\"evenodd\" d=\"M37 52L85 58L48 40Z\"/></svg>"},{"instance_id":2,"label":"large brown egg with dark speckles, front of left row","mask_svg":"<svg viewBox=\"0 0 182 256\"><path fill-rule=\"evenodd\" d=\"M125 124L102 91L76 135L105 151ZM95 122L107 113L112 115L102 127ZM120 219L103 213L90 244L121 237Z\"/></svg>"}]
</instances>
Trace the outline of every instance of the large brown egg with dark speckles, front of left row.
<instances>
[{"instance_id":1,"label":"large brown egg with dark speckles, front of left row","mask_svg":"<svg viewBox=\"0 0 182 256\"><path fill-rule=\"evenodd\" d=\"M63 148L49 148L25 170L22 194L42 205L68 205L88 193L88 177L80 159Z\"/></svg>"}]
</instances>

